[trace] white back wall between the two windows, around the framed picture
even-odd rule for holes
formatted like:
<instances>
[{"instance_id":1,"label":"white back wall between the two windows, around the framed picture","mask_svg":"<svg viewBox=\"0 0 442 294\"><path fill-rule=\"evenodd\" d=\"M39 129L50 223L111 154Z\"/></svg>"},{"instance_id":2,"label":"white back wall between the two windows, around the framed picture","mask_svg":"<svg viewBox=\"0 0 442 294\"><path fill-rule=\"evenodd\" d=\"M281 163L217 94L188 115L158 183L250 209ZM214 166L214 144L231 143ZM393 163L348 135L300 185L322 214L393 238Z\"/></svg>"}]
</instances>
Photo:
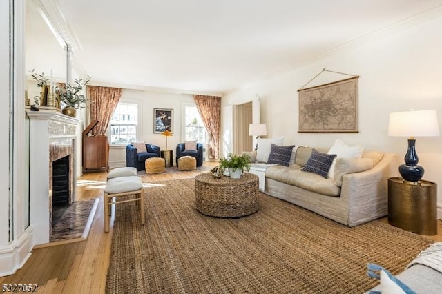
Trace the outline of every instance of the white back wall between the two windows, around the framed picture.
<instances>
[{"instance_id":1,"label":"white back wall between the two windows, around the framed picture","mask_svg":"<svg viewBox=\"0 0 442 294\"><path fill-rule=\"evenodd\" d=\"M160 146L162 150L166 148L166 137L153 133L153 108L173 109L173 136L168 137L167 148L173 150L173 157L175 158L177 144L184 141L182 134L182 107L183 104L195 103L193 95L123 89L120 102L139 104L140 126L138 132L140 136L138 139L148 144ZM175 162L175 159L173 160ZM126 145L111 146L109 150L109 166L111 168L126 166Z\"/></svg>"}]
</instances>

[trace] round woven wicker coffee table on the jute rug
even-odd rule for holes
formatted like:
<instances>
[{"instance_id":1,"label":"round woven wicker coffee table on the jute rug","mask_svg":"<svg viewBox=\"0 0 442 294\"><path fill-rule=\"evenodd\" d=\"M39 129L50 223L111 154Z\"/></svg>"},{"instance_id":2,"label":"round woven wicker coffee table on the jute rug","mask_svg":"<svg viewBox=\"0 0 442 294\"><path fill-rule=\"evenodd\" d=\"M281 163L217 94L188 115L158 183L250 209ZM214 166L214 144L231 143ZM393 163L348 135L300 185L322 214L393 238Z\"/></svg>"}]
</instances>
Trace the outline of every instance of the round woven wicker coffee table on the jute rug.
<instances>
[{"instance_id":1,"label":"round woven wicker coffee table on the jute rug","mask_svg":"<svg viewBox=\"0 0 442 294\"><path fill-rule=\"evenodd\" d=\"M240 179L222 176L214 179L211 173L195 177L195 208L212 217L242 217L256 213L258 204L258 176L244 173Z\"/></svg>"}]
</instances>

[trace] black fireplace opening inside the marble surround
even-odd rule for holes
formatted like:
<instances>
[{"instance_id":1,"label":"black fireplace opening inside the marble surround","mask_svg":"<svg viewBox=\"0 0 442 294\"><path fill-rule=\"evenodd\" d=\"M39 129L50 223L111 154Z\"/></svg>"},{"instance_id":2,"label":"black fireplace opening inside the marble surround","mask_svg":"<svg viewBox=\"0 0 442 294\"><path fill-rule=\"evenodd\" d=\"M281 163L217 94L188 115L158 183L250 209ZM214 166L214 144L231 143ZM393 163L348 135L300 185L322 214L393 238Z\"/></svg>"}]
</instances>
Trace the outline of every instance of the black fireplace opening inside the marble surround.
<instances>
[{"instance_id":1,"label":"black fireplace opening inside the marble surround","mask_svg":"<svg viewBox=\"0 0 442 294\"><path fill-rule=\"evenodd\" d=\"M52 161L52 227L70 206L69 157Z\"/></svg>"}]
</instances>

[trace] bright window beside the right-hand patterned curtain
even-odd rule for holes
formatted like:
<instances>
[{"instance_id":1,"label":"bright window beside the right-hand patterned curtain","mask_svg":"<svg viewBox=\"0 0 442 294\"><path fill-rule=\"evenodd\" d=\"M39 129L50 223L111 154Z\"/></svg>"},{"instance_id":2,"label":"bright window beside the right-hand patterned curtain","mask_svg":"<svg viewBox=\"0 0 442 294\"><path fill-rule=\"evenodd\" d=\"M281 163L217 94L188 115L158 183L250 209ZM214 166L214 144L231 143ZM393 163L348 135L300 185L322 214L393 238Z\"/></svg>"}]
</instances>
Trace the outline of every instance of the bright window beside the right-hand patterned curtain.
<instances>
[{"instance_id":1,"label":"bright window beside the right-hand patterned curtain","mask_svg":"<svg viewBox=\"0 0 442 294\"><path fill-rule=\"evenodd\" d=\"M184 106L184 140L206 143L207 131L195 105Z\"/></svg>"}]
</instances>

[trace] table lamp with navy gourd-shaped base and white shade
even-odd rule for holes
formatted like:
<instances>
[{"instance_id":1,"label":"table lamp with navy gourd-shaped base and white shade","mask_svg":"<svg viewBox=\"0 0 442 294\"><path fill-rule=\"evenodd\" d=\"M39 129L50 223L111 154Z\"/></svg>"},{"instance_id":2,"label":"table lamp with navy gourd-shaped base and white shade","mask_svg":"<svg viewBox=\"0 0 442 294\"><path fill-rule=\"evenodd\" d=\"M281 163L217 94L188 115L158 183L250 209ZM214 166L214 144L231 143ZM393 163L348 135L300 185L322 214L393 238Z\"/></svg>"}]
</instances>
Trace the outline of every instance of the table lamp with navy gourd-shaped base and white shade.
<instances>
[{"instance_id":1,"label":"table lamp with navy gourd-shaped base and white shade","mask_svg":"<svg viewBox=\"0 0 442 294\"><path fill-rule=\"evenodd\" d=\"M405 164L399 166L399 173L408 182L419 182L424 169L418 166L419 158L416 153L414 137L439 136L439 124L435 110L404 111L390 113L388 135L393 137L408 137L408 149L405 154Z\"/></svg>"}]
</instances>

